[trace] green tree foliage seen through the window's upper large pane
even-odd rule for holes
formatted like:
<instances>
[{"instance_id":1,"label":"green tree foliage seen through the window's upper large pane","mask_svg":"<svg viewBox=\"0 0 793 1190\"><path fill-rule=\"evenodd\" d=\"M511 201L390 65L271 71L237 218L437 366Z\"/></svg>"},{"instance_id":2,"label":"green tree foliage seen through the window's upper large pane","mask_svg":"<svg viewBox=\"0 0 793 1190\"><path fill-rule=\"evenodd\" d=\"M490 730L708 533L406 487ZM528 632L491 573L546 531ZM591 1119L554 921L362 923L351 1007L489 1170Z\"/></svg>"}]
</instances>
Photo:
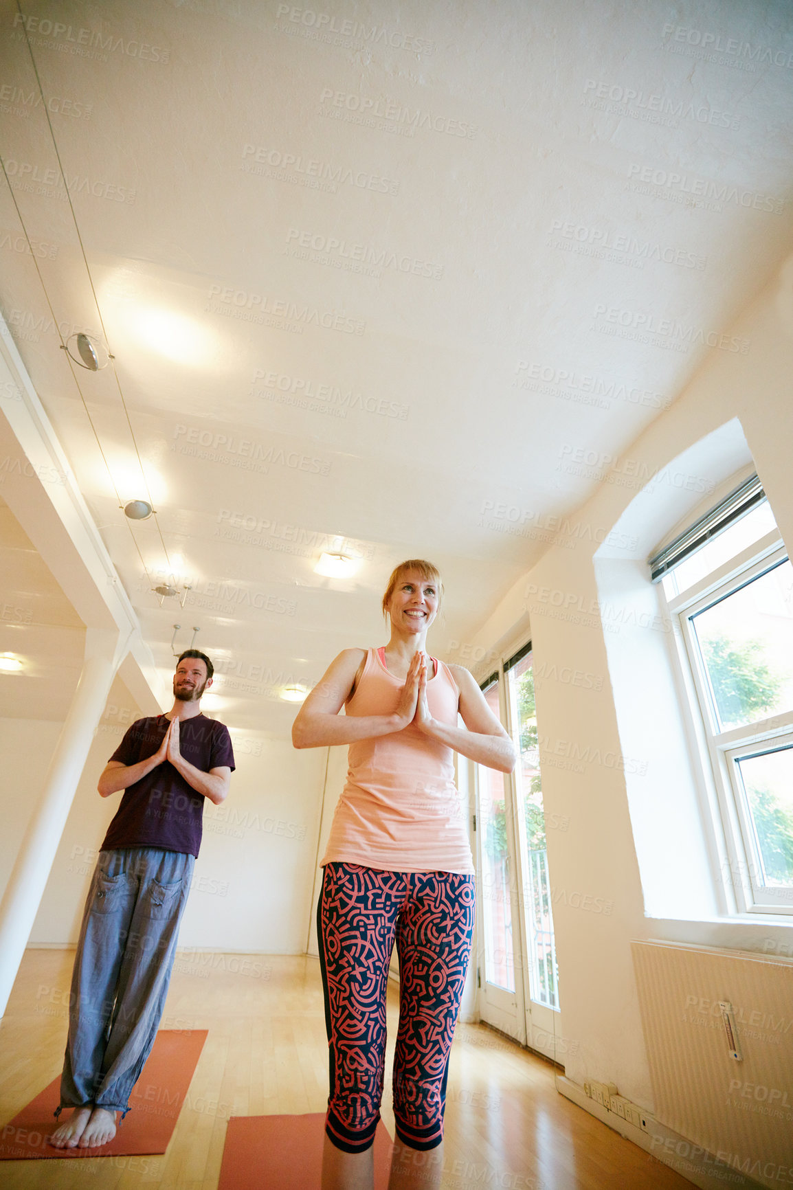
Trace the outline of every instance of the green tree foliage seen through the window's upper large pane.
<instances>
[{"instance_id":1,"label":"green tree foliage seen through the window's upper large pane","mask_svg":"<svg viewBox=\"0 0 793 1190\"><path fill-rule=\"evenodd\" d=\"M760 640L741 644L724 633L700 641L711 677L719 718L725 727L751 722L773 710L782 678L764 660L766 646Z\"/></svg>"}]
</instances>

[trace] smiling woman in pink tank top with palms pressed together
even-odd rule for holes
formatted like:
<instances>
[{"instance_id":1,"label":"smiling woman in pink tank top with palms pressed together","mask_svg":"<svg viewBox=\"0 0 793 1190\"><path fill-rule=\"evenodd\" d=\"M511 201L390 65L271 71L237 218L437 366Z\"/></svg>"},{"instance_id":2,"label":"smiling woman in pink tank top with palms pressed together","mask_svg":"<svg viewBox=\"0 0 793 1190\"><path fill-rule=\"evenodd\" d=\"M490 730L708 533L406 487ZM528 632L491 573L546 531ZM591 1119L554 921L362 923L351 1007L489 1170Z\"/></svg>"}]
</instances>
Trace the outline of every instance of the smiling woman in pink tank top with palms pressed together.
<instances>
[{"instance_id":1,"label":"smiling woman in pink tank top with palms pressed together","mask_svg":"<svg viewBox=\"0 0 793 1190\"><path fill-rule=\"evenodd\" d=\"M339 653L292 729L295 747L349 745L317 907L330 1052L325 1190L374 1185L394 942L400 1013L389 1190L439 1185L449 1051L475 909L454 752L501 772L517 759L468 670L425 653L442 591L431 563L396 566L382 600L388 644Z\"/></svg>"}]
</instances>

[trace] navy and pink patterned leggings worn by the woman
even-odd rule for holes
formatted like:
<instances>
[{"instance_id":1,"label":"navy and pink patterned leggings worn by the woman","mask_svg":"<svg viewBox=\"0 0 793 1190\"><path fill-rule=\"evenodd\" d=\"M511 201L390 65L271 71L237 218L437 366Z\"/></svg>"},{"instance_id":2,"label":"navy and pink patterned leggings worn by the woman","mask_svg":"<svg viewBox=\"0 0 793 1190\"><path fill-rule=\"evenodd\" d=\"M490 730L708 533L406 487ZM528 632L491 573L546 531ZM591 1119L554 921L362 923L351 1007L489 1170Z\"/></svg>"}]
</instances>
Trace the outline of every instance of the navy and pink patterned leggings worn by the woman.
<instances>
[{"instance_id":1,"label":"navy and pink patterned leggings worn by the woman","mask_svg":"<svg viewBox=\"0 0 793 1190\"><path fill-rule=\"evenodd\" d=\"M330 1048L325 1132L358 1153L374 1141L386 1065L386 985L396 940L396 1135L443 1140L449 1051L474 932L474 877L326 864L317 906Z\"/></svg>"}]
</instances>

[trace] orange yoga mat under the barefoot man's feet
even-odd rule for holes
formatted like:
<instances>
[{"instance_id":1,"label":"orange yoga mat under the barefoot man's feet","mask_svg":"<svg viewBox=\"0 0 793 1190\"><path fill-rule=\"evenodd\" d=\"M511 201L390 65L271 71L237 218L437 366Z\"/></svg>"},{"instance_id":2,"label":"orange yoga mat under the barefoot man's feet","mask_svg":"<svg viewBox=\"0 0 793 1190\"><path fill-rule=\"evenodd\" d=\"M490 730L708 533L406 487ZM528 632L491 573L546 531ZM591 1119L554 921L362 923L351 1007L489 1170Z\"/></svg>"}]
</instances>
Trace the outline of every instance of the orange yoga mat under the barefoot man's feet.
<instances>
[{"instance_id":1,"label":"orange yoga mat under the barefoot man's feet","mask_svg":"<svg viewBox=\"0 0 793 1190\"><path fill-rule=\"evenodd\" d=\"M124 1123L118 1125L110 1145L102 1145L101 1148L52 1148L46 1144L46 1138L61 1121L68 1119L71 1110L64 1108L58 1120L52 1115L60 1102L58 1076L19 1115L0 1128L0 1160L164 1153L204 1048L206 1033L206 1029L163 1029L157 1033L130 1096L130 1113Z\"/></svg>"}]
</instances>

